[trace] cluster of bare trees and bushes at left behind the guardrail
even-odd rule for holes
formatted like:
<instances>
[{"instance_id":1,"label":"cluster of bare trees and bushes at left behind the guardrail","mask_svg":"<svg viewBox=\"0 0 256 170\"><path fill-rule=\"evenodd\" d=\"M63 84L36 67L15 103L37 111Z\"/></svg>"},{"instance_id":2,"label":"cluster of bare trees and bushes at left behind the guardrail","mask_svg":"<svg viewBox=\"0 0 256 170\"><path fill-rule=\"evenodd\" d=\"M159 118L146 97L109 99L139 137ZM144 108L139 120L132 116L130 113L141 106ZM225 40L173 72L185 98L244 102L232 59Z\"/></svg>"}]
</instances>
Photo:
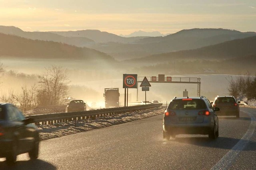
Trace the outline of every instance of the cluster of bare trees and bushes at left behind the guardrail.
<instances>
[{"instance_id":1,"label":"cluster of bare trees and bushes at left behind the guardrail","mask_svg":"<svg viewBox=\"0 0 256 170\"><path fill-rule=\"evenodd\" d=\"M2 95L0 100L4 103L14 103L24 113L36 106L63 105L70 82L67 70L52 65L38 78L38 83L31 87L22 86L21 93L9 91L7 95Z\"/></svg>"}]
</instances>

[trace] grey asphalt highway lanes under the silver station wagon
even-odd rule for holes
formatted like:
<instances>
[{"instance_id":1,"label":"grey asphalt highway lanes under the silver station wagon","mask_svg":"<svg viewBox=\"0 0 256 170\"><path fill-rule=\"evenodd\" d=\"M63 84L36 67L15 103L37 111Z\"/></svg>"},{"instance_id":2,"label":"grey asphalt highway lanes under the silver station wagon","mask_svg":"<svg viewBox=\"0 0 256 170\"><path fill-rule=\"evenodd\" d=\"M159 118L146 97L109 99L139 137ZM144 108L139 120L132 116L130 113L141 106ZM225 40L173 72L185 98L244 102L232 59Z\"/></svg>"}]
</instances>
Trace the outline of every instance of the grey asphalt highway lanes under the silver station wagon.
<instances>
[{"instance_id":1,"label":"grey asphalt highway lanes under the silver station wagon","mask_svg":"<svg viewBox=\"0 0 256 170\"><path fill-rule=\"evenodd\" d=\"M38 160L18 156L0 169L255 169L256 109L240 108L240 119L219 118L220 136L162 137L162 115L112 127L44 140Z\"/></svg>"}]
</instances>

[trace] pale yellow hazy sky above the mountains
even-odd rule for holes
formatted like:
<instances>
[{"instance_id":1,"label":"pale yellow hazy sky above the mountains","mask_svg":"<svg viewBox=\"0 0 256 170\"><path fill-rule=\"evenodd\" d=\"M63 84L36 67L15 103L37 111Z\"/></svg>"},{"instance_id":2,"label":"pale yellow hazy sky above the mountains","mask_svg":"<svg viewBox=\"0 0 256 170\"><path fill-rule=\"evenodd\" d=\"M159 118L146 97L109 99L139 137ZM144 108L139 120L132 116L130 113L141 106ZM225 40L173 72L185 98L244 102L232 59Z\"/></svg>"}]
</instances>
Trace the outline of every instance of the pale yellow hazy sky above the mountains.
<instances>
[{"instance_id":1,"label":"pale yellow hazy sky above the mountains","mask_svg":"<svg viewBox=\"0 0 256 170\"><path fill-rule=\"evenodd\" d=\"M0 25L118 35L191 28L256 32L256 0L0 0Z\"/></svg>"}]
</instances>

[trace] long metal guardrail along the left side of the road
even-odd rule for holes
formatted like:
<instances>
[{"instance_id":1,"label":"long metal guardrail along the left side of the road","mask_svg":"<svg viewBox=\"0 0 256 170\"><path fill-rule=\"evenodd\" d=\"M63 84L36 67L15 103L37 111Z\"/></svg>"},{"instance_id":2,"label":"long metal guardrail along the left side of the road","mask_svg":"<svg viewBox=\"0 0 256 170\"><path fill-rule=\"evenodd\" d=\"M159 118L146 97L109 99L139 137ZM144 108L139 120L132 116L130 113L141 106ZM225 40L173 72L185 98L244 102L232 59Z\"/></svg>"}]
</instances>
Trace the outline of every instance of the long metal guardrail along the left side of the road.
<instances>
[{"instance_id":1,"label":"long metal guardrail along the left side of the road","mask_svg":"<svg viewBox=\"0 0 256 170\"><path fill-rule=\"evenodd\" d=\"M42 115L30 115L26 118L34 119L36 125L48 125L60 122L76 121L81 119L95 119L95 117L102 117L104 115L114 115L117 113L125 113L131 111L137 111L142 109L150 109L154 107L160 107L162 104L149 104L149 105L138 105L128 107L117 107L109 109L99 109L92 111L81 111L81 112L68 112L68 113L48 113Z\"/></svg>"}]
</instances>

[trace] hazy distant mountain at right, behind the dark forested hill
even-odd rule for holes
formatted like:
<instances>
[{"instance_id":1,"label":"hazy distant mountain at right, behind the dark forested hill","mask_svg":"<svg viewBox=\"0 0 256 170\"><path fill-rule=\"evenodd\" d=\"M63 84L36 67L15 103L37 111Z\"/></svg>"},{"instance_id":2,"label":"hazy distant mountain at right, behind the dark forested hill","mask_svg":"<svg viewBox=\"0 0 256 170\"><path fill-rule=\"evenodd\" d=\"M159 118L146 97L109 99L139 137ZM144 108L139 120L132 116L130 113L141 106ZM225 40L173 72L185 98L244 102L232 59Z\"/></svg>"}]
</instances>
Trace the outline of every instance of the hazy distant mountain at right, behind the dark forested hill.
<instances>
[{"instance_id":1,"label":"hazy distant mountain at right, behind the dark forested hill","mask_svg":"<svg viewBox=\"0 0 256 170\"><path fill-rule=\"evenodd\" d=\"M97 43L89 47L108 53L118 60L125 60L159 53L196 49L251 36L256 36L256 33L224 29L191 29L182 30L165 37L143 38L131 44Z\"/></svg>"}]
</instances>

